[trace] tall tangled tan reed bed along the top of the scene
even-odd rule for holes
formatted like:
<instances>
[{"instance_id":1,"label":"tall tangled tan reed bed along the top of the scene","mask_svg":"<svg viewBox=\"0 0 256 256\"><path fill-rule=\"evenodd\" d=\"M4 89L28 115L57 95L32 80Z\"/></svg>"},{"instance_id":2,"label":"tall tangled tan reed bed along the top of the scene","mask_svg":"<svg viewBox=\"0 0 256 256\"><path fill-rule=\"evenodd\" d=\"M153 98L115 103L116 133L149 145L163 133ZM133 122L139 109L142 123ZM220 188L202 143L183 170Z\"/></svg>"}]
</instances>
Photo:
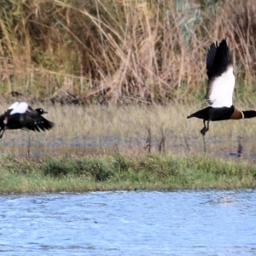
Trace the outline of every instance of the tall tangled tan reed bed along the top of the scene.
<instances>
[{"instance_id":1,"label":"tall tangled tan reed bed along the top of the scene","mask_svg":"<svg viewBox=\"0 0 256 256\"><path fill-rule=\"evenodd\" d=\"M59 89L90 102L188 100L204 91L212 41L229 38L238 86L255 90L253 0L30 0L0 9L0 89Z\"/></svg>"}]
</instances>

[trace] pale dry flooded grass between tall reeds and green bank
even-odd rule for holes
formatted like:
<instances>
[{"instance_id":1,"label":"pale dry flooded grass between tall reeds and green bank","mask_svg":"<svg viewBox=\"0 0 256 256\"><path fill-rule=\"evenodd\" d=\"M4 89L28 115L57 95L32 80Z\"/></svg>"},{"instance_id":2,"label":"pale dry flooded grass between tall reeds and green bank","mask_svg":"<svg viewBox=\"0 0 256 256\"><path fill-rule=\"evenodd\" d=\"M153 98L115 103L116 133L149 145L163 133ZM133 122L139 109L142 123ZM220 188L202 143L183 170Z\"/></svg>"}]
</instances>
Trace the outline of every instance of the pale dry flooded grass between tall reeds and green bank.
<instances>
[{"instance_id":1,"label":"pale dry flooded grass between tall reeds and green bank","mask_svg":"<svg viewBox=\"0 0 256 256\"><path fill-rule=\"evenodd\" d=\"M135 156L148 154L149 148L152 154L204 152L200 133L202 120L186 119L189 113L201 108L199 105L131 105L119 108L116 105L61 107L34 103L32 107L43 107L49 111L44 116L55 122L54 129L41 133L6 131L0 142L3 154L40 157L45 154L118 153ZM253 152L256 152L253 143L255 125L256 119L211 122L205 137L207 154L226 158L237 152L240 143L241 156L253 159Z\"/></svg>"}]
</instances>

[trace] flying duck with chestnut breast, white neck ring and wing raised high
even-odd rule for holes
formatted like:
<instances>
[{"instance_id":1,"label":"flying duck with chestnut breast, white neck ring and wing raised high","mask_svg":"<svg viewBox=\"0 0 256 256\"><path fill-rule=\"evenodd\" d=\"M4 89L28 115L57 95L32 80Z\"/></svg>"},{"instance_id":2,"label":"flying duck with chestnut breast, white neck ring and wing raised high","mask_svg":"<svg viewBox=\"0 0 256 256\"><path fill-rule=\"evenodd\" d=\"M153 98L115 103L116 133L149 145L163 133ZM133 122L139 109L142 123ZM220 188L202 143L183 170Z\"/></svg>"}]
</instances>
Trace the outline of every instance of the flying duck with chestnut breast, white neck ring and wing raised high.
<instances>
[{"instance_id":1,"label":"flying duck with chestnut breast, white neck ring and wing raised high","mask_svg":"<svg viewBox=\"0 0 256 256\"><path fill-rule=\"evenodd\" d=\"M210 121L228 119L251 119L256 117L256 111L240 111L233 106L232 96L236 84L233 61L226 39L218 45L212 43L207 53L207 95L205 101L210 105L190 114L187 118L203 119L204 136L209 130ZM207 123L207 125L206 125Z\"/></svg>"}]
</instances>

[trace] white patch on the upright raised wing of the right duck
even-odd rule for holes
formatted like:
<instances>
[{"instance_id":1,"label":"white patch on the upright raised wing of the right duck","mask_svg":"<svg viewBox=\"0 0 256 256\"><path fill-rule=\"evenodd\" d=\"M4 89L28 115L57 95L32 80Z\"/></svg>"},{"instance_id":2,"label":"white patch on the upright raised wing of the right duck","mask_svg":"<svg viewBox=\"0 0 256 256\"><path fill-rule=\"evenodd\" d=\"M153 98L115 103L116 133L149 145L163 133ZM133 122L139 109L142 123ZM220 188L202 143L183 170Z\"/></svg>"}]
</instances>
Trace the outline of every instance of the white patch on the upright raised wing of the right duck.
<instances>
[{"instance_id":1,"label":"white patch on the upright raised wing of the right duck","mask_svg":"<svg viewBox=\"0 0 256 256\"><path fill-rule=\"evenodd\" d=\"M207 96L205 98L212 108L222 108L232 106L233 91L236 84L236 78L233 66L229 66L227 71L218 77L212 77L207 87Z\"/></svg>"}]
</instances>

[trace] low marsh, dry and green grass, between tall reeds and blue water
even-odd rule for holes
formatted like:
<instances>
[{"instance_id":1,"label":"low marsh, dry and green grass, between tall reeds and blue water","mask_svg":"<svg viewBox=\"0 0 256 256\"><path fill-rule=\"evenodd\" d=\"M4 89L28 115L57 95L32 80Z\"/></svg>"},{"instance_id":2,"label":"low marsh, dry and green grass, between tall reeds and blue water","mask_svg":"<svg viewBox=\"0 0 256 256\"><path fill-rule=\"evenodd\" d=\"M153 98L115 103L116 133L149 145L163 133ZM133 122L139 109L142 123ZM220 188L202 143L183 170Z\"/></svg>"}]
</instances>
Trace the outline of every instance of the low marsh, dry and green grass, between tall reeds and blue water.
<instances>
[{"instance_id":1,"label":"low marsh, dry and green grass, between tall reeds and blue water","mask_svg":"<svg viewBox=\"0 0 256 256\"><path fill-rule=\"evenodd\" d=\"M185 119L182 105L44 108L55 120L54 130L7 131L3 137L0 191L228 189L256 184L254 120L214 123L205 154L201 121ZM148 128L151 153L145 147Z\"/></svg>"}]
</instances>

